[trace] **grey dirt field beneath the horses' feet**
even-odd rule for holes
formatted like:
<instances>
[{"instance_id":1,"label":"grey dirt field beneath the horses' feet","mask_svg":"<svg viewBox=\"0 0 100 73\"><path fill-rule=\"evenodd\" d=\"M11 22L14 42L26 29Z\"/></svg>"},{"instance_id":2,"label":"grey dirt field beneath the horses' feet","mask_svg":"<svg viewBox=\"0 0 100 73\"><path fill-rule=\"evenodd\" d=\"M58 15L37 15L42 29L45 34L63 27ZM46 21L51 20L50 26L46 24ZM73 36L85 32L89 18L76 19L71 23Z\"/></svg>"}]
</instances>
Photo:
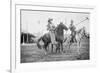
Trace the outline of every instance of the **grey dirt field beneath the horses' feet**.
<instances>
[{"instance_id":1,"label":"grey dirt field beneath the horses' feet","mask_svg":"<svg viewBox=\"0 0 100 73\"><path fill-rule=\"evenodd\" d=\"M51 49L49 49L50 51ZM74 43L70 50L64 45L65 53L48 53L38 49L36 45L21 45L21 63L89 60L89 39L81 41L80 54L77 53L77 45Z\"/></svg>"}]
</instances>

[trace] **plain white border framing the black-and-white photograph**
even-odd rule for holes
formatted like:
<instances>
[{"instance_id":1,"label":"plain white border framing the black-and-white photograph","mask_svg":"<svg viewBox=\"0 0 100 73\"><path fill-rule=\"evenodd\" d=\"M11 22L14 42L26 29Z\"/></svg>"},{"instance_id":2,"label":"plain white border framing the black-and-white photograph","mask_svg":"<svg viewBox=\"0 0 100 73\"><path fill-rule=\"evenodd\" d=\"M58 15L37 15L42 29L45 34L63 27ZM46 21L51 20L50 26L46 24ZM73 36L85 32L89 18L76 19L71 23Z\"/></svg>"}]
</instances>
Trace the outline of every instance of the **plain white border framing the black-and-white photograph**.
<instances>
[{"instance_id":1,"label":"plain white border framing the black-and-white photograph","mask_svg":"<svg viewBox=\"0 0 100 73\"><path fill-rule=\"evenodd\" d=\"M58 6L58 7L57 7ZM82 8L82 9L81 9ZM27 63L20 64L20 9L33 9L33 10L54 10L54 11L73 11L73 12L89 12L90 13L90 60L85 61L62 61L62 62L43 62L43 63ZM94 66L96 64L95 55L95 9L93 7L78 7L76 6L60 6L50 5L50 6L35 6L34 5L23 5L15 4L12 2L12 22L11 22L11 70L12 72L29 72L29 71L43 71L43 70L54 70L54 69L66 69L66 68L79 68ZM15 40L16 39L16 40ZM33 70L34 69L34 70Z\"/></svg>"}]
</instances>

